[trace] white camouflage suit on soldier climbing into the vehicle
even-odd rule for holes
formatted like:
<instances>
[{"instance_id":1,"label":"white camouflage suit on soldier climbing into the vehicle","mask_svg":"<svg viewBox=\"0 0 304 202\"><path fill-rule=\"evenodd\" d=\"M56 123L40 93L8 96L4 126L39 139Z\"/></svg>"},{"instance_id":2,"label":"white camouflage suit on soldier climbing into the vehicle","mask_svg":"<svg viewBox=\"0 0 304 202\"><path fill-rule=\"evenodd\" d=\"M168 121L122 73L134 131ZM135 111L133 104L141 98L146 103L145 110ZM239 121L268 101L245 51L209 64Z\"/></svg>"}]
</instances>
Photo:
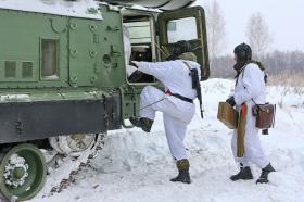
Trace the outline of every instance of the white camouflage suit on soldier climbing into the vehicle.
<instances>
[{"instance_id":1,"label":"white camouflage suit on soldier climbing into the vehicle","mask_svg":"<svg viewBox=\"0 0 304 202\"><path fill-rule=\"evenodd\" d=\"M183 62L191 68L198 68L199 75L201 75L200 65L192 61L176 60L156 63L134 63L138 66L139 71L157 78L165 86L165 90L169 89L172 93L178 93L193 100L197 98L197 91L192 89L192 80L189 75L190 70ZM163 98L165 99L162 100ZM162 101L157 102L160 100ZM154 104L149 105L151 103ZM142 109L139 112L140 117L148 117L150 119L154 119L156 111L163 112L165 132L173 157L177 161L187 159L183 139L187 125L195 113L195 104L165 94L155 87L147 86L140 94L140 109Z\"/></svg>"}]
</instances>

